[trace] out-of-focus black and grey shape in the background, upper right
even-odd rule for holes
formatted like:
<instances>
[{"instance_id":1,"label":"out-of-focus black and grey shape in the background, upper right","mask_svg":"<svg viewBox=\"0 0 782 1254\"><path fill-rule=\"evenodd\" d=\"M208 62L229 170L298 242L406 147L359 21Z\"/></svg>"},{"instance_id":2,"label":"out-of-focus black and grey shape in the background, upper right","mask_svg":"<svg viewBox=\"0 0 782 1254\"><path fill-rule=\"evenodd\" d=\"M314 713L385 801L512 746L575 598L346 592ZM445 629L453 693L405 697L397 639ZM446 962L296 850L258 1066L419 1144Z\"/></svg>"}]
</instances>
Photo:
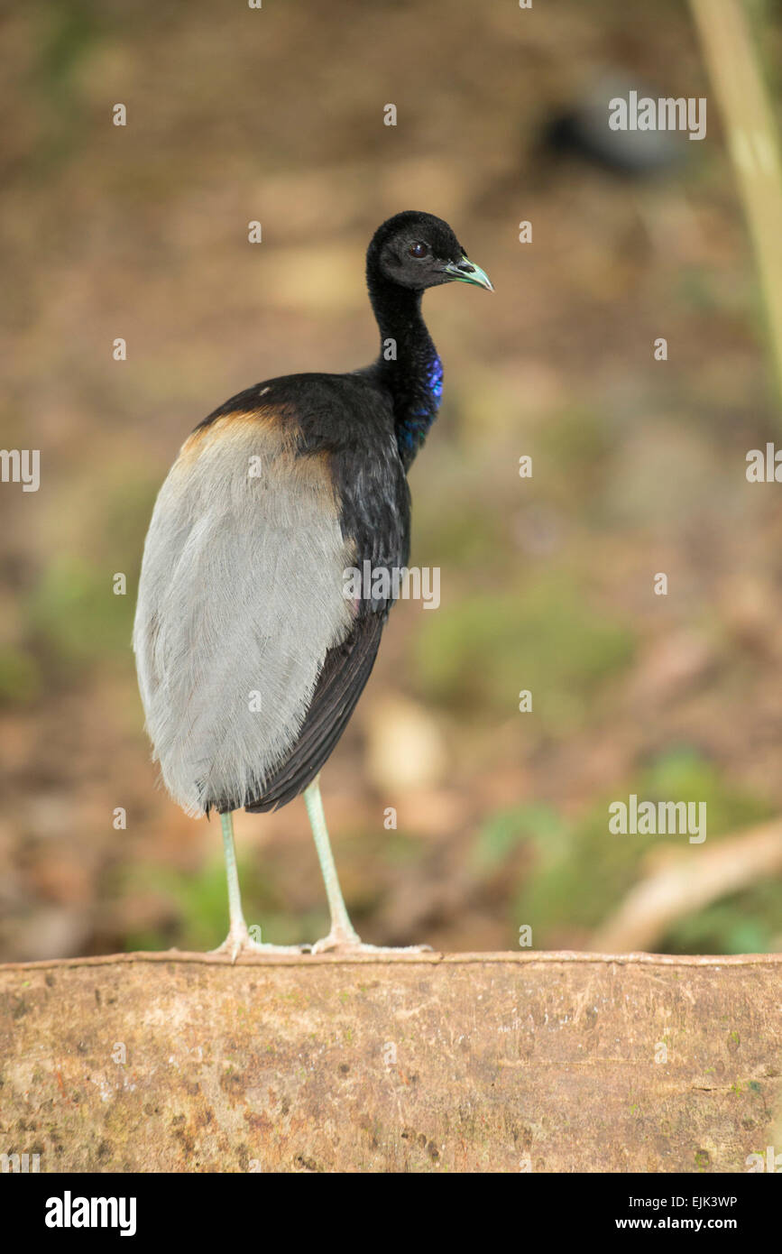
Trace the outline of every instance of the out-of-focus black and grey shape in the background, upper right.
<instances>
[{"instance_id":1,"label":"out-of-focus black and grey shape in the background, upper right","mask_svg":"<svg viewBox=\"0 0 782 1254\"><path fill-rule=\"evenodd\" d=\"M624 74L603 74L579 99L554 114L543 129L541 152L549 159L580 158L600 169L624 178L648 178L674 169L683 162L683 135L670 130L612 130L610 102L628 99L658 100L664 92L654 90Z\"/></svg>"}]
</instances>

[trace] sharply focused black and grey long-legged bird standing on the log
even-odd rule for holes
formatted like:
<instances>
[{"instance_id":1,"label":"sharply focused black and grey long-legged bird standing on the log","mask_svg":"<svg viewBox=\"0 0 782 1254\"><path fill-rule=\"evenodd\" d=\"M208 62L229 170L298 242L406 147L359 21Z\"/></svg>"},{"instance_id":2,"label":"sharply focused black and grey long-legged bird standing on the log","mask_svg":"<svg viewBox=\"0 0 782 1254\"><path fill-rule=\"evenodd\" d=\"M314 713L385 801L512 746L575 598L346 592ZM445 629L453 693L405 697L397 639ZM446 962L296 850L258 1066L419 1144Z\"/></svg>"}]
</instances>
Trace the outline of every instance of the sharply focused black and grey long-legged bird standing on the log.
<instances>
[{"instance_id":1,"label":"sharply focused black and grey long-legged bird standing on the log","mask_svg":"<svg viewBox=\"0 0 782 1254\"><path fill-rule=\"evenodd\" d=\"M331 910L328 935L305 948L370 948L345 908L318 772L372 670L394 572L407 566L406 474L442 393L421 296L454 280L493 288L447 223L417 212L376 231L366 277L377 360L269 379L216 409L183 444L144 545L133 647L147 729L174 800L221 815L221 949L234 959L286 947L248 935L232 811L274 810L300 793ZM356 596L356 569L386 576Z\"/></svg>"}]
</instances>

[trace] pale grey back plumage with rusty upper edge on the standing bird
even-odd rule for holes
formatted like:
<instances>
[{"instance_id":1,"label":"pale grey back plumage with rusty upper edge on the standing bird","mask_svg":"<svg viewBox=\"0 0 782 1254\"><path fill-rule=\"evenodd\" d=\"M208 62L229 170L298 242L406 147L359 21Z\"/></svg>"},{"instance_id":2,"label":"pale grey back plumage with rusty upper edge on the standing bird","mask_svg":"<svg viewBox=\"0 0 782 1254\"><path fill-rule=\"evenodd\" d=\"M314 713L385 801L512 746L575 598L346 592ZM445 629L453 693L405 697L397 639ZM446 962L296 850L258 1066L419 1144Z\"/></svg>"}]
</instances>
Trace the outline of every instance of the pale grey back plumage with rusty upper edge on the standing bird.
<instances>
[{"instance_id":1,"label":"pale grey back plumage with rusty upper edge on the standing bird","mask_svg":"<svg viewBox=\"0 0 782 1254\"><path fill-rule=\"evenodd\" d=\"M231 415L183 445L147 534L133 647L154 757L188 814L243 805L289 752L352 624L352 561L327 468L278 423Z\"/></svg>"}]
</instances>

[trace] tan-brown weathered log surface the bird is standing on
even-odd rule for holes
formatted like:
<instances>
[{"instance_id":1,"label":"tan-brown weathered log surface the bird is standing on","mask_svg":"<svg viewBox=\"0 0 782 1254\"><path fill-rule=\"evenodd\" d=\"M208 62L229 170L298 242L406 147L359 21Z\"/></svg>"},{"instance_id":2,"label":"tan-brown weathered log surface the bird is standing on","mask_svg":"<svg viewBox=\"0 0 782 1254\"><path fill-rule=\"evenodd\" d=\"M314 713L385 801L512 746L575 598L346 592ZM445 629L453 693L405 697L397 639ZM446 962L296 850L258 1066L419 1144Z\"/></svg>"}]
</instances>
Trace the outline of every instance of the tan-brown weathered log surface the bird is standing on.
<instances>
[{"instance_id":1,"label":"tan-brown weathered log surface the bird is standing on","mask_svg":"<svg viewBox=\"0 0 782 1254\"><path fill-rule=\"evenodd\" d=\"M0 1154L41 1172L743 1172L779 1136L781 1023L782 956L6 966Z\"/></svg>"}]
</instances>

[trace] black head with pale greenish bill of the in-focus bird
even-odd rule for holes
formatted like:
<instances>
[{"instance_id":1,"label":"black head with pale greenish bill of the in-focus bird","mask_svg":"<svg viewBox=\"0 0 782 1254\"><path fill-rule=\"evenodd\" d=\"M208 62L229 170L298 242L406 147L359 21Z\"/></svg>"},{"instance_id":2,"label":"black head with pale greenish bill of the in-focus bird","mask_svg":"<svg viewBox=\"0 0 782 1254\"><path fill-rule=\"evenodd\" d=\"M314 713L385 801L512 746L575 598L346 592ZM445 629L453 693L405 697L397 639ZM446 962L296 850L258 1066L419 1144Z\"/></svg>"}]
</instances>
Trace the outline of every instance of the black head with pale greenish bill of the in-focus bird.
<instances>
[{"instance_id":1,"label":"black head with pale greenish bill of the in-focus bird","mask_svg":"<svg viewBox=\"0 0 782 1254\"><path fill-rule=\"evenodd\" d=\"M424 291L460 281L494 291L487 275L467 260L447 222L407 209L388 218L372 236L367 276Z\"/></svg>"}]
</instances>

